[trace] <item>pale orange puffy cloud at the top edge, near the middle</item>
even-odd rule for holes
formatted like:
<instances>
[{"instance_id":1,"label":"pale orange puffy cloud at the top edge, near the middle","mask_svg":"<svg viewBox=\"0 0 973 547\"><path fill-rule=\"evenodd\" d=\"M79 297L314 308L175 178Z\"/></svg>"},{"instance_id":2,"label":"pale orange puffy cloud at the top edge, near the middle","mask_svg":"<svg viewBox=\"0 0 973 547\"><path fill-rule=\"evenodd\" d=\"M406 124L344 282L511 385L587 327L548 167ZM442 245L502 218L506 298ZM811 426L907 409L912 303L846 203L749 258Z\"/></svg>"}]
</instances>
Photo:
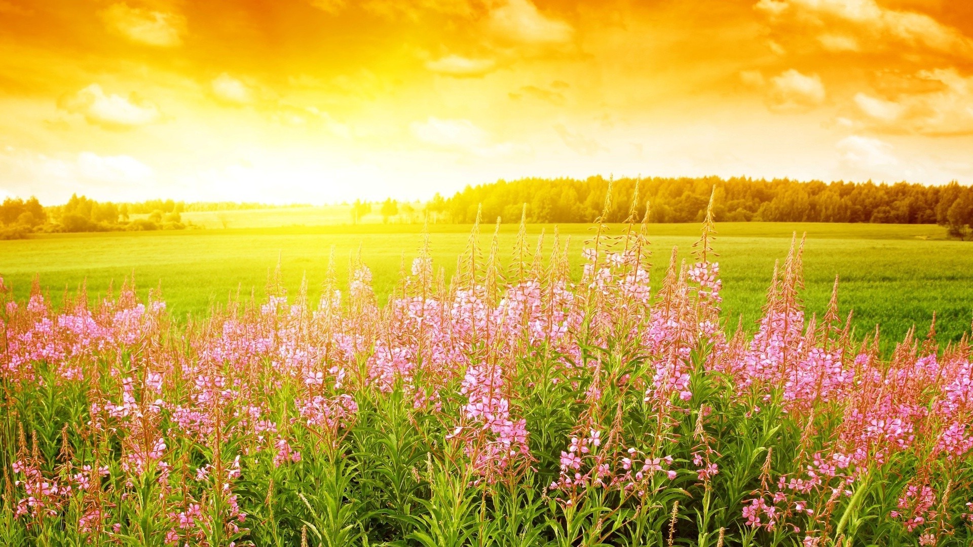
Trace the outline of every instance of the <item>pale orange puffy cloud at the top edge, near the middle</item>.
<instances>
[{"instance_id":1,"label":"pale orange puffy cloud at the top edge, near the middle","mask_svg":"<svg viewBox=\"0 0 973 547\"><path fill-rule=\"evenodd\" d=\"M522 44L564 44L574 34L570 24L548 18L530 0L508 0L490 12L487 25L502 39Z\"/></svg>"}]
</instances>

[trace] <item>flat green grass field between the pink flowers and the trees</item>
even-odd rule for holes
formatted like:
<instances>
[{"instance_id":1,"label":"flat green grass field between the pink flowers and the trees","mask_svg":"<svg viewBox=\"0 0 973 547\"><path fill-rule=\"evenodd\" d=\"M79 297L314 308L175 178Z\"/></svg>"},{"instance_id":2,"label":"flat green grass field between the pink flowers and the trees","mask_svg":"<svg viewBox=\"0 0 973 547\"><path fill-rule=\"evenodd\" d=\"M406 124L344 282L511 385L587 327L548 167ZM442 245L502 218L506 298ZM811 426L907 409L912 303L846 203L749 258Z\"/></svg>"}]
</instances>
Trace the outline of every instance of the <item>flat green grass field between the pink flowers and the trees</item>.
<instances>
[{"instance_id":1,"label":"flat green grass field between the pink flowers and the trees","mask_svg":"<svg viewBox=\"0 0 973 547\"><path fill-rule=\"evenodd\" d=\"M553 226L530 226L531 234ZM433 256L450 273L464 248L470 227L431 228ZM578 274L579 251L590 237L587 225L559 228L571 237L571 257ZM883 346L900 339L916 324L924 335L936 311L942 340L958 340L973 313L973 244L948 240L944 229L915 225L841 225L726 223L717 225L716 250L724 282L727 321L736 326L739 314L752 328L759 316L776 259L782 259L791 234L807 232L805 300L811 311L824 309L835 275L841 276L843 310L855 310L861 334L881 324ZM501 248L510 257L515 225L501 230ZM617 233L619 227L614 227ZM687 255L698 235L697 225L650 225L658 283L671 247ZM177 316L200 315L213 303L224 303L240 289L263 294L267 274L279 257L291 290L306 274L312 296L318 292L332 248L338 270L346 276L352 253L374 273L379 299L384 300L398 278L403 257L411 261L420 240L419 225L363 225L209 229L184 232L49 235L0 241L0 274L25 297L31 279L54 301L65 287L75 290L87 279L90 294L104 293L134 274L140 292L162 286L169 309ZM481 244L489 243L485 227ZM550 249L550 237L548 238Z\"/></svg>"}]
</instances>

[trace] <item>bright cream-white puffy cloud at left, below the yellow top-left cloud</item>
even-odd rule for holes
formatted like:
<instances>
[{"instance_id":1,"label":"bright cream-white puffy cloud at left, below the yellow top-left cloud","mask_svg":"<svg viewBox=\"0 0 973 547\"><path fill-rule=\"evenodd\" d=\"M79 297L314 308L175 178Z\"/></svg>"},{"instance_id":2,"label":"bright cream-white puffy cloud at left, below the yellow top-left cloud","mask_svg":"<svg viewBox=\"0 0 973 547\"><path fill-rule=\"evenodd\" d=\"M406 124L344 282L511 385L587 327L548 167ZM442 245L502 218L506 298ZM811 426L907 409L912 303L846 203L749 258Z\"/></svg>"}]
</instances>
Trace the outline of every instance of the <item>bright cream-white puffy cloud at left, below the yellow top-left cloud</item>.
<instances>
[{"instance_id":1,"label":"bright cream-white puffy cloud at left, below the yellow top-left cloud","mask_svg":"<svg viewBox=\"0 0 973 547\"><path fill-rule=\"evenodd\" d=\"M162 119L159 107L138 94L132 92L128 98L105 94L97 84L62 95L57 106L72 114L81 114L89 124L106 129L137 128Z\"/></svg>"}]
</instances>

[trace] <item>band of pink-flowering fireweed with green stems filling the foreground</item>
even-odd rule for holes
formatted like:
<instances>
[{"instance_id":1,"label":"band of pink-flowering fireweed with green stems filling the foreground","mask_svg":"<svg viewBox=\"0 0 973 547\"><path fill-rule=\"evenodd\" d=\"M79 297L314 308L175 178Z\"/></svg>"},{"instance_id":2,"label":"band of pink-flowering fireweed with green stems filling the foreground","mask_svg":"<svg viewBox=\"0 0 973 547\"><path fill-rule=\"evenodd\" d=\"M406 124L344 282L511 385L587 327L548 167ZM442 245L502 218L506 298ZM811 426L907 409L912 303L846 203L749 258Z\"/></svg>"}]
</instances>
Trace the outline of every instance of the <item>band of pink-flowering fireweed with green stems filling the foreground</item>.
<instances>
[{"instance_id":1,"label":"band of pink-flowering fireweed with green stems filling the foreground","mask_svg":"<svg viewBox=\"0 0 973 547\"><path fill-rule=\"evenodd\" d=\"M798 240L728 339L711 214L651 275L635 217L578 282L557 232L478 223L450 283L426 236L384 307L354 259L189 324L0 282L0 544L971 544L968 339L807 317Z\"/></svg>"}]
</instances>

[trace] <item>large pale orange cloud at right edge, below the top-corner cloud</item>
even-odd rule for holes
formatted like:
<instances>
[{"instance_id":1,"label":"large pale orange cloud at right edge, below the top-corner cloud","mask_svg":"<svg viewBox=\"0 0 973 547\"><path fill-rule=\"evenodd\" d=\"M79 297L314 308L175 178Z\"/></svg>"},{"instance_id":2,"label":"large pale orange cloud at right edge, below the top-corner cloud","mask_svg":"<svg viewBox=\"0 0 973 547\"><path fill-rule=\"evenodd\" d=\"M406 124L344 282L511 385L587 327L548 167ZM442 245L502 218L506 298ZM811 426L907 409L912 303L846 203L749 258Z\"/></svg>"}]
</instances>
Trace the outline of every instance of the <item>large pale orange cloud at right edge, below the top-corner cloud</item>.
<instances>
[{"instance_id":1,"label":"large pale orange cloud at right edge, below the top-corner cloud","mask_svg":"<svg viewBox=\"0 0 973 547\"><path fill-rule=\"evenodd\" d=\"M955 68L920 70L900 87L890 98L855 94L866 127L890 133L973 134L973 77L963 77Z\"/></svg>"}]
</instances>

